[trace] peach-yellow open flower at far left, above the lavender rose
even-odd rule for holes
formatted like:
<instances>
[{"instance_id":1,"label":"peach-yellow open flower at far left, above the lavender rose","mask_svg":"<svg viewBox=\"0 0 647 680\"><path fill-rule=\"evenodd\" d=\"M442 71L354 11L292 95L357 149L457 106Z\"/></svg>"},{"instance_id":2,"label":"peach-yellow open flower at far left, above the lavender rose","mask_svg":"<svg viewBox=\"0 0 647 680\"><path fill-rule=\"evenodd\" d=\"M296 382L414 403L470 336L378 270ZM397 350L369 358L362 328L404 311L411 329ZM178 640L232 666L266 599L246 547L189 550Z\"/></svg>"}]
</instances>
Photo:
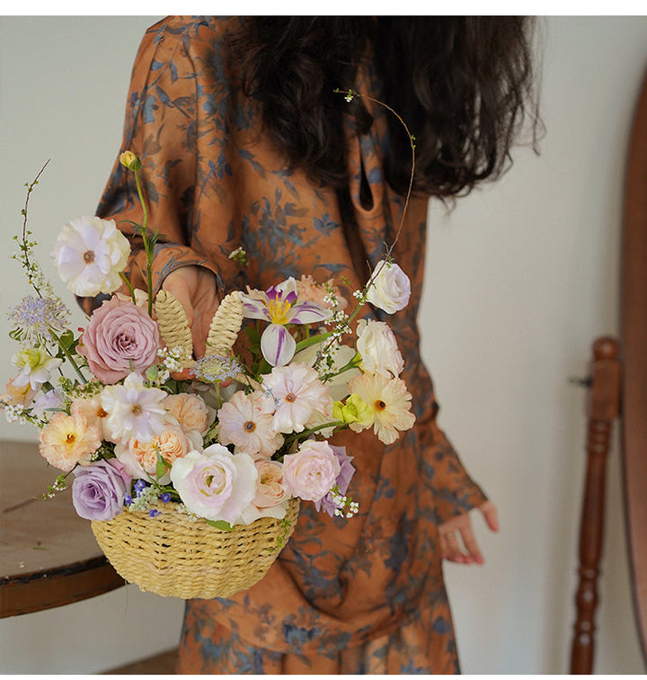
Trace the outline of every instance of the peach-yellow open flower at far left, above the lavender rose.
<instances>
[{"instance_id":1,"label":"peach-yellow open flower at far left, above the lavender rose","mask_svg":"<svg viewBox=\"0 0 647 680\"><path fill-rule=\"evenodd\" d=\"M58 470L69 472L75 465L89 465L101 446L99 428L83 416L58 413L39 433L40 455Z\"/></svg>"}]
</instances>

